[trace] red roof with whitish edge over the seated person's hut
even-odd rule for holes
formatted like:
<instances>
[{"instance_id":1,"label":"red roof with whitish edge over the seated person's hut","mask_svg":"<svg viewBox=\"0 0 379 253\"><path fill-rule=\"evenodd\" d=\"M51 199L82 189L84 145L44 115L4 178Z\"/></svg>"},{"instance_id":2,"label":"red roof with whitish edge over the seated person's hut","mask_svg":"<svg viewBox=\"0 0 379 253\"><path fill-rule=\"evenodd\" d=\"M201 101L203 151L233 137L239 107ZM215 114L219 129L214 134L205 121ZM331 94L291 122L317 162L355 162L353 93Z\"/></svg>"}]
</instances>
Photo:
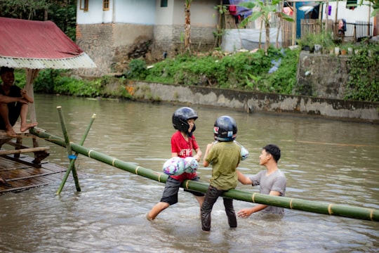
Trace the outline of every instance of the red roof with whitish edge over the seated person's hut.
<instances>
[{"instance_id":1,"label":"red roof with whitish edge over the seated person's hut","mask_svg":"<svg viewBox=\"0 0 379 253\"><path fill-rule=\"evenodd\" d=\"M51 21L0 18L0 66L30 69L96 67Z\"/></svg>"}]
</instances>

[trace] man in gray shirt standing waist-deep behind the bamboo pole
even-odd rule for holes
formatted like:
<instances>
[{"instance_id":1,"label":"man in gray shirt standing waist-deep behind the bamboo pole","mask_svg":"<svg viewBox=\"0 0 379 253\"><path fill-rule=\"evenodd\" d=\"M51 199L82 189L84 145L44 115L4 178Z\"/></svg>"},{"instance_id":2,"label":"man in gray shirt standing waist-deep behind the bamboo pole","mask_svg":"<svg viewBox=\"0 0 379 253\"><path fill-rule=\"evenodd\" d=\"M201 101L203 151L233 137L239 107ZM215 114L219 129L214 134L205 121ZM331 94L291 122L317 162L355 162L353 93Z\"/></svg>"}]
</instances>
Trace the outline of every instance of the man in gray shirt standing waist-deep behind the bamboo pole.
<instances>
[{"instance_id":1,"label":"man in gray shirt standing waist-deep behind the bamboo pole","mask_svg":"<svg viewBox=\"0 0 379 253\"><path fill-rule=\"evenodd\" d=\"M266 170L260 171L254 176L245 176L237 170L238 181L244 185L260 186L259 191L262 194L282 196L286 195L286 176L278 169L280 159L280 148L277 145L269 144L262 148L259 156L260 165L266 167ZM237 213L239 217L248 217L255 212L270 212L272 214L284 214L283 207L274 207L269 205L258 204L251 208L244 208Z\"/></svg>"}]
</instances>

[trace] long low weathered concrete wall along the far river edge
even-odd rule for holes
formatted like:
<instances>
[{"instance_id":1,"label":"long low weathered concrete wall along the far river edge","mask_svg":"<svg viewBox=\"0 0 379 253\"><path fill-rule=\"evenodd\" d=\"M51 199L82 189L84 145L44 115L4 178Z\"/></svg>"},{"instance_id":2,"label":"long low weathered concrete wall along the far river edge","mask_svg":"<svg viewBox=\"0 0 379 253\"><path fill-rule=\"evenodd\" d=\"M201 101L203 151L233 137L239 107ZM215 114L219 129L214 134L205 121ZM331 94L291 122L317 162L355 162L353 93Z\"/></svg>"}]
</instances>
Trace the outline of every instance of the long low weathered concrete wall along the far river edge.
<instances>
[{"instance_id":1,"label":"long low weathered concrete wall along the far river edge","mask_svg":"<svg viewBox=\"0 0 379 253\"><path fill-rule=\"evenodd\" d=\"M128 82L126 89L136 100L207 105L248 113L280 112L379 124L379 103L149 82Z\"/></svg>"}]
</instances>

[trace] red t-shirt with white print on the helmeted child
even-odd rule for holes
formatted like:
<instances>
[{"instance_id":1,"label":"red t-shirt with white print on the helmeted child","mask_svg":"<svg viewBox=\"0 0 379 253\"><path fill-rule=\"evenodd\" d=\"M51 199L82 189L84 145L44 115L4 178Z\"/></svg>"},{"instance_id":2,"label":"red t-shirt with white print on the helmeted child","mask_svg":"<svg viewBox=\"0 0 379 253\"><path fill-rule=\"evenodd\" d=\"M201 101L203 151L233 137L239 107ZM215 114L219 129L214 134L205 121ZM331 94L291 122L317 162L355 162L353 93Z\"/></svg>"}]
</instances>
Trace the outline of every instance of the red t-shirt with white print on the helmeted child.
<instances>
[{"instance_id":1,"label":"red t-shirt with white print on the helmeted child","mask_svg":"<svg viewBox=\"0 0 379 253\"><path fill-rule=\"evenodd\" d=\"M182 136L180 131L176 131L173 136L171 136L171 153L178 153L178 157L192 157L192 150L197 150L199 145L195 136L192 134L192 137L188 137L188 141L185 141L185 138ZM172 176L173 179L176 179L180 182L185 181L185 179L194 179L197 176L196 172L194 173L183 173L178 176Z\"/></svg>"}]
</instances>

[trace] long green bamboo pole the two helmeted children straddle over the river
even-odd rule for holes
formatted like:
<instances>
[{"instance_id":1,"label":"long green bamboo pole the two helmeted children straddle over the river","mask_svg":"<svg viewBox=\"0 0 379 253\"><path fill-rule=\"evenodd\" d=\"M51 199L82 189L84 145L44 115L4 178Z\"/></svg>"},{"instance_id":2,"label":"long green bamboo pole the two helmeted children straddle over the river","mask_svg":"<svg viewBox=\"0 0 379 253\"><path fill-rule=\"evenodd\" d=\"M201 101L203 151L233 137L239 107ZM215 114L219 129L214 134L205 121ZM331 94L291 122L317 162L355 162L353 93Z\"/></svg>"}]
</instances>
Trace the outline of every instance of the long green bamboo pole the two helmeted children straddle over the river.
<instances>
[{"instance_id":1,"label":"long green bamboo pole the two helmeted children straddle over the river","mask_svg":"<svg viewBox=\"0 0 379 253\"><path fill-rule=\"evenodd\" d=\"M39 136L40 138L45 138L47 141L61 145L65 147L65 141L58 136L53 136L46 133L46 131L34 127L29 130L30 134ZM144 176L148 179L153 179L161 183L166 183L167 175L153 171L152 169L146 169L140 167L137 164L131 162L124 162L118 160L117 158L110 157L108 155L102 154L98 151L85 148L81 145L71 143L72 150L81 155L86 155L87 157L93 158L100 162L104 162L113 167L123 169L124 171L131 172L136 175ZM208 189L208 183L201 183L196 181L186 180L182 183L182 188L199 191L201 193L206 193ZM222 197L230 197L234 200L241 200L246 202L254 202L263 205L272 205L276 207L284 207L288 209L296 209L305 212L314 212L319 214L328 214L334 216L344 216L353 219L363 219L368 221L379 221L379 210L368 209L365 207L351 207L348 205L335 205L323 202L316 202L310 200L301 200L291 197L278 197L272 195L265 195L260 193L248 193L242 190L228 190Z\"/></svg>"}]
</instances>

